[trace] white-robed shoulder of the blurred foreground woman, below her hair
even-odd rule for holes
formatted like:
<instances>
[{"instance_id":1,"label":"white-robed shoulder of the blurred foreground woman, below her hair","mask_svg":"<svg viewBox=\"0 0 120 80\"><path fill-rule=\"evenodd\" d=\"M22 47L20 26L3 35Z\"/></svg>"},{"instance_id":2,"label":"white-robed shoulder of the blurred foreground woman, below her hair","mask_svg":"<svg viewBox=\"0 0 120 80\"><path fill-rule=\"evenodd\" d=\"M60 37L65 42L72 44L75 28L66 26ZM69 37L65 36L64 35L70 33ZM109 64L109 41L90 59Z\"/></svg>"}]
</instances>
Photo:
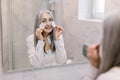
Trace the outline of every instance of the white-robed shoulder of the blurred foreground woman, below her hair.
<instances>
[{"instance_id":1,"label":"white-robed shoulder of the blurred foreground woman, below her hair","mask_svg":"<svg viewBox=\"0 0 120 80\"><path fill-rule=\"evenodd\" d=\"M97 80L120 80L120 67L114 67L108 72L101 74Z\"/></svg>"}]
</instances>

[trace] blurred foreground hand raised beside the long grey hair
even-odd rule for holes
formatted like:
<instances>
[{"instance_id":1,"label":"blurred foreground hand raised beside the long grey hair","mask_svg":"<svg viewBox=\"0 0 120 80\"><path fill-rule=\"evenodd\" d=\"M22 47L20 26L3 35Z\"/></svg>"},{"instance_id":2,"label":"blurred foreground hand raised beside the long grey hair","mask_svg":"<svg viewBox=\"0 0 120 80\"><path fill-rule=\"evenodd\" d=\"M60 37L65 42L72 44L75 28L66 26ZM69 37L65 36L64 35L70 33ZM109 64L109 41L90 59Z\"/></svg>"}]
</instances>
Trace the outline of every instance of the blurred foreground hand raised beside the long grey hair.
<instances>
[{"instance_id":1,"label":"blurred foreground hand raised beside the long grey hair","mask_svg":"<svg viewBox=\"0 0 120 80\"><path fill-rule=\"evenodd\" d=\"M90 60L91 64L99 68L100 66L100 55L99 55L99 44L92 45L88 47L88 54L87 57Z\"/></svg>"}]
</instances>

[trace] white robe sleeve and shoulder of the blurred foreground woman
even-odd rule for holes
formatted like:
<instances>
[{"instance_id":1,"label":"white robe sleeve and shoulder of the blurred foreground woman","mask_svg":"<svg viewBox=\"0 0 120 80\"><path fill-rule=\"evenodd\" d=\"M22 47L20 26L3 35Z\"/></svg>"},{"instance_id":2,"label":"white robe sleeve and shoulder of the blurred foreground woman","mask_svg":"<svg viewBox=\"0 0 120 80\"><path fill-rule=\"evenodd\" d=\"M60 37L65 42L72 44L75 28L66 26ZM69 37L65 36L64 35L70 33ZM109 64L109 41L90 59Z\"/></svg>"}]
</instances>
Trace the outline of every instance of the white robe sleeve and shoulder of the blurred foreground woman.
<instances>
[{"instance_id":1,"label":"white robe sleeve and shoulder of the blurred foreground woman","mask_svg":"<svg viewBox=\"0 0 120 80\"><path fill-rule=\"evenodd\" d=\"M80 80L93 80L97 74L98 69L89 65L89 70L82 75ZM96 80L120 80L120 67L113 67L105 73L102 73Z\"/></svg>"}]
</instances>

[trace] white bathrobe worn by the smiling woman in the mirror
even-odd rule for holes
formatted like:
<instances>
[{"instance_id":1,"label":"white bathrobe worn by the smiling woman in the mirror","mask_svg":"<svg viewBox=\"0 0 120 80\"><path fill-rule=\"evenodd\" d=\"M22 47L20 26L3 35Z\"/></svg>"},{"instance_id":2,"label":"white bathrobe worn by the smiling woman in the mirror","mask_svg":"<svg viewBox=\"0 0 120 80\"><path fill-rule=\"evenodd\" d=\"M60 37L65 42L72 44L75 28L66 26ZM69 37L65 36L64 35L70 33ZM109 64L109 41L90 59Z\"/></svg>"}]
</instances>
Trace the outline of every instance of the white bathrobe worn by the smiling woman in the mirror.
<instances>
[{"instance_id":1,"label":"white bathrobe worn by the smiling woman in the mirror","mask_svg":"<svg viewBox=\"0 0 120 80\"><path fill-rule=\"evenodd\" d=\"M34 46L34 35L30 35L26 39L27 41L27 53L32 66L43 67L64 64L66 62L66 51L64 48L64 41L62 35L59 40L55 41L56 51L53 53L49 50L47 53L44 52L45 42L38 40L37 46ZM48 37L50 42L50 37Z\"/></svg>"}]
</instances>

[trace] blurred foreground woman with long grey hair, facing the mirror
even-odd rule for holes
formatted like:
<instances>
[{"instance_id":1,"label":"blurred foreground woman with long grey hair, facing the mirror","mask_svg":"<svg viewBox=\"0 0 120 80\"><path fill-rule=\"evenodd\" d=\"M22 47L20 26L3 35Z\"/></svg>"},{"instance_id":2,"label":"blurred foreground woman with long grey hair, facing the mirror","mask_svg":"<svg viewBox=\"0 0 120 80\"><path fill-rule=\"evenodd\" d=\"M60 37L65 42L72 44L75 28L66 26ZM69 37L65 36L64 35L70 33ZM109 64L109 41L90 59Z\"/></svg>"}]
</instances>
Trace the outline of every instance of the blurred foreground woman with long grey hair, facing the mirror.
<instances>
[{"instance_id":1,"label":"blurred foreground woman with long grey hair, facing the mirror","mask_svg":"<svg viewBox=\"0 0 120 80\"><path fill-rule=\"evenodd\" d=\"M96 72L89 80L120 80L120 12L108 16L103 29L102 44L88 48L87 56Z\"/></svg>"}]
</instances>

